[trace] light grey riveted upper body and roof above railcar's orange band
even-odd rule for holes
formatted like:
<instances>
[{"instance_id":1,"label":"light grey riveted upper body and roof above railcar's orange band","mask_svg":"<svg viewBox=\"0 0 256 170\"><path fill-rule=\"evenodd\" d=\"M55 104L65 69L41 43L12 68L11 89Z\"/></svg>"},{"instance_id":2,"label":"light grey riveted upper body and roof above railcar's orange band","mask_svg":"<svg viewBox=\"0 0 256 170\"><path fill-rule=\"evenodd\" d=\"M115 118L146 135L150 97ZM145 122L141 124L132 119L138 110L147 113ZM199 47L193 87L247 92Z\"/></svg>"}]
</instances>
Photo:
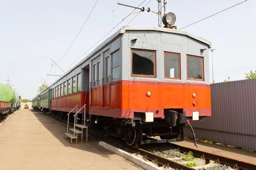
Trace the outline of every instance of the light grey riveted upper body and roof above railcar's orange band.
<instances>
[{"instance_id":1,"label":"light grey riveted upper body and roof above railcar's orange band","mask_svg":"<svg viewBox=\"0 0 256 170\"><path fill-rule=\"evenodd\" d=\"M145 35L145 36L144 36ZM136 45L131 44L129 39L133 37L138 37ZM147 40L140 39L141 37L147 37ZM154 38L156 41L152 41ZM161 45L163 44L163 45ZM131 50L130 48L140 48L140 49L150 49L157 51L157 78L139 78L131 77L129 75L131 65L129 60L131 59ZM207 48L204 53L200 53L200 48ZM186 31L180 31L170 28L160 28L160 27L131 27L124 26L108 37L100 45L98 45L90 54L84 57L79 63L77 63L73 68L63 74L55 82L49 85L49 88L55 88L61 83L67 81L76 74L81 73L81 69L87 65L90 65L92 68L93 61L97 58L101 58L100 61L103 61L106 55L110 55L117 49L120 50L120 78L121 79L138 79L138 80L148 80L148 81L177 81L177 82L198 82L193 80L186 80L186 54L196 55L204 57L204 82L198 83L207 83L209 84L209 57L208 49L211 48L211 43L207 40L204 40L201 37L192 35ZM180 53L181 58L181 79L180 80L170 80L164 79L163 73L161 73L163 67L163 51L176 52ZM103 66L103 65L102 65ZM160 66L160 68L159 68ZM101 69L101 77L104 77L104 69ZM90 69L90 81L91 69ZM47 91L47 88L45 91ZM84 91L82 86L82 91ZM44 92L42 92L44 93Z\"/></svg>"}]
</instances>

